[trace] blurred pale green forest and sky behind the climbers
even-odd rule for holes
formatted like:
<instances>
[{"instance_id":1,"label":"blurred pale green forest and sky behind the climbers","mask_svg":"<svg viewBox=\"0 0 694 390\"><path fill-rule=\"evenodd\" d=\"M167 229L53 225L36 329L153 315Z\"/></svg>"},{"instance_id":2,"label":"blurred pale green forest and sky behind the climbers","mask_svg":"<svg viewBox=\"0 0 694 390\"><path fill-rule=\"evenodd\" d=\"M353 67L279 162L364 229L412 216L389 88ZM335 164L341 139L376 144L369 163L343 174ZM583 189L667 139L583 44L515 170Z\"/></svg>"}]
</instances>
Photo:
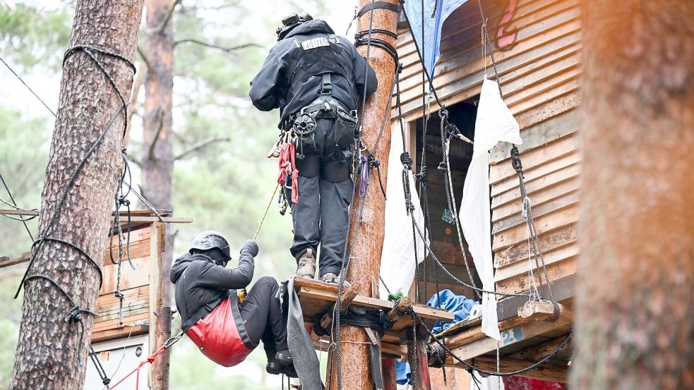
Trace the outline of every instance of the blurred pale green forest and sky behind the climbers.
<instances>
[{"instance_id":1,"label":"blurred pale green forest and sky behind the climbers","mask_svg":"<svg viewBox=\"0 0 694 390\"><path fill-rule=\"evenodd\" d=\"M54 111L73 3L0 0L0 57ZM277 138L277 111L261 113L251 105L249 81L275 44L275 28L282 16L308 11L344 34L354 15L354 4L327 0L176 2L169 23L174 42L180 42L174 47L172 108L173 155L180 158L174 162L172 205L174 215L191 217L194 223L173 226L174 258L187 250L197 232L206 229L225 233L234 259L238 258L241 243L253 236L261 220L277 174L276 162L265 158ZM136 59L140 72L147 69L143 61L146 54L142 55L147 28L143 17ZM354 28L350 35L353 33ZM54 117L2 64L0 87L0 173L20 207L36 208ZM135 162L131 164L133 183L152 192L161 189L143 183L137 164L148 150L143 142L145 99L142 87L134 106L128 155ZM4 188L0 189L0 199L9 201ZM132 201L135 205L136 199ZM36 221L28 223L32 233ZM21 223L11 219L0 219L0 238L3 256L18 257L31 246ZM291 239L291 217L288 213L281 217L275 203L258 236L261 253L254 279L292 275ZM24 270L25 265L0 269L0 390L8 388L12 370L22 304L12 297ZM172 390L264 390L277 386L280 378L265 374L262 348L231 369L204 358L187 339L172 349Z\"/></svg>"}]
</instances>

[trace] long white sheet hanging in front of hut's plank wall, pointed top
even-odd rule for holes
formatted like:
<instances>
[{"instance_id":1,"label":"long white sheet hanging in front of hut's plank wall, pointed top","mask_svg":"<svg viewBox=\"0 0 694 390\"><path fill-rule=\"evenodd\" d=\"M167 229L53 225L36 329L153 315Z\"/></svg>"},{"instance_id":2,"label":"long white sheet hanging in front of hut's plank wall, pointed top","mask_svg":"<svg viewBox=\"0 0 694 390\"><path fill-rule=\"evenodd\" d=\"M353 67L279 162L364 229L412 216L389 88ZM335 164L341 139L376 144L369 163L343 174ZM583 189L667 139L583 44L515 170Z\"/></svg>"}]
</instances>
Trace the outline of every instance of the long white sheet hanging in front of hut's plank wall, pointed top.
<instances>
[{"instance_id":1,"label":"long white sheet hanging in front of hut's plank wall, pointed top","mask_svg":"<svg viewBox=\"0 0 694 390\"><path fill-rule=\"evenodd\" d=\"M482 288L494 290L491 257L491 204L489 201L489 150L498 142L520 145L520 128L499 95L496 82L484 79L474 124L474 147L462 190L460 224L469 245ZM496 316L496 297L482 294L482 331L501 340Z\"/></svg>"}]
</instances>

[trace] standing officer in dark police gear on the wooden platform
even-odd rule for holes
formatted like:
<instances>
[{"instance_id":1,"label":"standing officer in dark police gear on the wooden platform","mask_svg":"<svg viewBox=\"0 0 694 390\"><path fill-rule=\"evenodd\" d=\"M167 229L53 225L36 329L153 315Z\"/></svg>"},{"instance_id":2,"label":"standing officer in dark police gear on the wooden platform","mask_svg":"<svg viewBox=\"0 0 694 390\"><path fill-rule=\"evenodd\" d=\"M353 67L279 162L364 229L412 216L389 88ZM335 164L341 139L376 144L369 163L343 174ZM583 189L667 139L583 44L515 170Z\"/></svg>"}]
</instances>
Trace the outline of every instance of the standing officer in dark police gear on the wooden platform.
<instances>
[{"instance_id":1,"label":"standing officer in dark police gear on the wooden platform","mask_svg":"<svg viewBox=\"0 0 694 390\"><path fill-rule=\"evenodd\" d=\"M284 184L291 199L297 276L315 276L320 243L321 279L335 281L354 188L350 166L357 104L360 94L376 91L378 81L354 45L335 35L324 20L293 14L282 23L279 42L251 81L249 95L261 111L280 109L280 139L294 154L283 161L277 151L280 166L287 167ZM289 175L296 171L298 178Z\"/></svg>"}]
</instances>

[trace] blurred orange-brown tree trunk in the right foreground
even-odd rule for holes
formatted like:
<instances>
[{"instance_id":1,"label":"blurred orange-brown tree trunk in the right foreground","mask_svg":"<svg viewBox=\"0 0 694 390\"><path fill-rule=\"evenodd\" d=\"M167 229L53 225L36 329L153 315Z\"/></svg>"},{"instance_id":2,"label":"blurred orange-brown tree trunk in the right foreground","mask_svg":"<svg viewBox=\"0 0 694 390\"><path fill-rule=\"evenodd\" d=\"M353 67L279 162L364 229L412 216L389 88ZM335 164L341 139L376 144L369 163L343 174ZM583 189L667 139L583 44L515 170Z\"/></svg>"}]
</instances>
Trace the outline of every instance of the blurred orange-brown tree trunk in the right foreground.
<instances>
[{"instance_id":1,"label":"blurred orange-brown tree trunk in the right foreground","mask_svg":"<svg viewBox=\"0 0 694 390\"><path fill-rule=\"evenodd\" d=\"M587 0L572 389L694 388L694 4Z\"/></svg>"}]
</instances>

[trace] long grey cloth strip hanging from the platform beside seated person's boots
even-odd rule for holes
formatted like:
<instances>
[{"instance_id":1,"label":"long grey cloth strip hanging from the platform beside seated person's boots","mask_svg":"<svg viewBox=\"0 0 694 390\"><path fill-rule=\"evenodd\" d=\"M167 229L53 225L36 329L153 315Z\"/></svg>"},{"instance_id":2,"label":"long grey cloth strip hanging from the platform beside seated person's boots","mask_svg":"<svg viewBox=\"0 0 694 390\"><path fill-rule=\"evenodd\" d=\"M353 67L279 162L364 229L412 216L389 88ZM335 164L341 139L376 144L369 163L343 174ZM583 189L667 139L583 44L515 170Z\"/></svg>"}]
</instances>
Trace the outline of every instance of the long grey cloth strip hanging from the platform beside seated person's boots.
<instances>
[{"instance_id":1,"label":"long grey cloth strip hanging from the platform beside seated person's boots","mask_svg":"<svg viewBox=\"0 0 694 390\"><path fill-rule=\"evenodd\" d=\"M304 327L304 313L301 311L299 295L294 290L294 278L287 282L287 344L292 353L294 369L304 390L322 390L321 363L318 361L313 343Z\"/></svg>"}]
</instances>

